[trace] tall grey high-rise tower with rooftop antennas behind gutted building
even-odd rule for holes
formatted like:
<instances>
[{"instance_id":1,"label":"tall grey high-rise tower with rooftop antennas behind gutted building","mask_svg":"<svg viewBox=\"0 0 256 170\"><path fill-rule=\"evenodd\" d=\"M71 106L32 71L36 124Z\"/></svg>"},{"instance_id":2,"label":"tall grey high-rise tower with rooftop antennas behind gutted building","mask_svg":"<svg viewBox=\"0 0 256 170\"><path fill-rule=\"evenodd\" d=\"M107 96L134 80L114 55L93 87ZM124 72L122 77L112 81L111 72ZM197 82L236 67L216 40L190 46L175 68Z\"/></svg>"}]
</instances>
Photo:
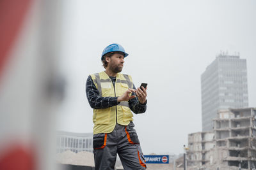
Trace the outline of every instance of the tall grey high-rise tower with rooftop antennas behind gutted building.
<instances>
[{"instance_id":1,"label":"tall grey high-rise tower with rooftop antennas behind gutted building","mask_svg":"<svg viewBox=\"0 0 256 170\"><path fill-rule=\"evenodd\" d=\"M212 131L218 110L248 107L246 59L221 53L201 75L202 131Z\"/></svg>"}]
</instances>

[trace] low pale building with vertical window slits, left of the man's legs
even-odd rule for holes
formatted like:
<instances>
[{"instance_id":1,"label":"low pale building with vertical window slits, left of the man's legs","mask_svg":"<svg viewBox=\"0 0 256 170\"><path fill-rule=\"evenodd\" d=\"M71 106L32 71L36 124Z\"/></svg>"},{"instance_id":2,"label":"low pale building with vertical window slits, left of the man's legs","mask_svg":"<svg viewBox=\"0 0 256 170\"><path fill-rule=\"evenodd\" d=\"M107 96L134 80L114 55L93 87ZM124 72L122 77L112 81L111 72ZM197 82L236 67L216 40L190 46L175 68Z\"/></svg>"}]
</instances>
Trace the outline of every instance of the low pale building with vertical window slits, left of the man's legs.
<instances>
[{"instance_id":1,"label":"low pale building with vertical window slits, left of the man's legs","mask_svg":"<svg viewBox=\"0 0 256 170\"><path fill-rule=\"evenodd\" d=\"M56 152L61 153L66 150L76 153L93 152L93 134L58 131Z\"/></svg>"}]
</instances>

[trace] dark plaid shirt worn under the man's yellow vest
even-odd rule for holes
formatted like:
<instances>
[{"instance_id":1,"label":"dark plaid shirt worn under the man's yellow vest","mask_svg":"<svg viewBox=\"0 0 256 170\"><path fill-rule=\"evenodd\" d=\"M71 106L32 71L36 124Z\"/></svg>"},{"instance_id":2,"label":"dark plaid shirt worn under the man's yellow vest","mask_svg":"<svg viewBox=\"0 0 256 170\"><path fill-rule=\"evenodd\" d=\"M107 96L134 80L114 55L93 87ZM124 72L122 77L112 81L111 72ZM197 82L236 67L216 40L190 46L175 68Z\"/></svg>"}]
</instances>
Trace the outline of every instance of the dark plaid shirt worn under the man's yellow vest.
<instances>
[{"instance_id":1,"label":"dark plaid shirt worn under the man's yellow vest","mask_svg":"<svg viewBox=\"0 0 256 170\"><path fill-rule=\"evenodd\" d=\"M134 85L133 85L133 89L136 89ZM132 95L136 95L136 94L132 92ZM90 106L93 109L104 109L104 108L116 106L118 104L117 97L102 97L99 95L99 90L96 88L95 84L93 83L91 76L88 76L86 81L86 96ZM147 101L144 104L140 104L138 97L134 97L134 99L131 99L128 102L129 102L129 108L136 114L144 113L147 110L147 105L146 105Z\"/></svg>"}]
</instances>

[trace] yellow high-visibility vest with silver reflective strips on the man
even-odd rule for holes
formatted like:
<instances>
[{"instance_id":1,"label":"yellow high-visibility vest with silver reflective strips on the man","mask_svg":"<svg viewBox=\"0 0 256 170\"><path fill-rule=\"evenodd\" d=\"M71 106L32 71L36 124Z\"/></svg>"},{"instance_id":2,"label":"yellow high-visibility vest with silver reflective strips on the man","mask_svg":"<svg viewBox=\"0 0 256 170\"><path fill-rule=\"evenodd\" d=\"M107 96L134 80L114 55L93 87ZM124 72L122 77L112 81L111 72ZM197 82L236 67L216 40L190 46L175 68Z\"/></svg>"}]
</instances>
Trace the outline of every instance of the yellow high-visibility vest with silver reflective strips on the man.
<instances>
[{"instance_id":1,"label":"yellow high-visibility vest with silver reflective strips on the man","mask_svg":"<svg viewBox=\"0 0 256 170\"><path fill-rule=\"evenodd\" d=\"M126 90L133 87L132 78L127 74L116 75L115 89L105 71L90 76L102 97L122 96ZM128 101L122 101L117 106L109 108L93 109L93 134L110 133L114 130L116 122L120 125L128 125L133 120L132 117Z\"/></svg>"}]
</instances>

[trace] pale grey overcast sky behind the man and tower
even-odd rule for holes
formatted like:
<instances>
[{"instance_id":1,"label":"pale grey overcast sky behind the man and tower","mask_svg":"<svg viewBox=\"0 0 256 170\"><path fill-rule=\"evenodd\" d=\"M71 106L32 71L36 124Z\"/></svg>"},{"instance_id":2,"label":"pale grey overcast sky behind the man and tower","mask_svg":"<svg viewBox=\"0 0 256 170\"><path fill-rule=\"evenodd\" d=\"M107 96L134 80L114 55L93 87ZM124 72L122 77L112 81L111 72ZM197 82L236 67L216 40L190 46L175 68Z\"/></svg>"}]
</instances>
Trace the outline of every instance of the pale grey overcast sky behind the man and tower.
<instances>
[{"instance_id":1,"label":"pale grey overcast sky behind the man and tower","mask_svg":"<svg viewBox=\"0 0 256 170\"><path fill-rule=\"evenodd\" d=\"M221 51L247 60L249 106L256 107L256 1L65 1L61 74L67 81L58 129L92 132L85 95L102 50L120 43L122 73L148 83L147 111L134 115L144 154L182 153L202 131L200 76Z\"/></svg>"}]
</instances>

